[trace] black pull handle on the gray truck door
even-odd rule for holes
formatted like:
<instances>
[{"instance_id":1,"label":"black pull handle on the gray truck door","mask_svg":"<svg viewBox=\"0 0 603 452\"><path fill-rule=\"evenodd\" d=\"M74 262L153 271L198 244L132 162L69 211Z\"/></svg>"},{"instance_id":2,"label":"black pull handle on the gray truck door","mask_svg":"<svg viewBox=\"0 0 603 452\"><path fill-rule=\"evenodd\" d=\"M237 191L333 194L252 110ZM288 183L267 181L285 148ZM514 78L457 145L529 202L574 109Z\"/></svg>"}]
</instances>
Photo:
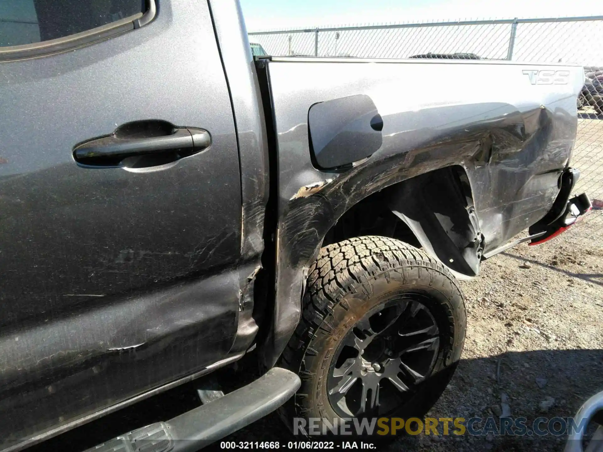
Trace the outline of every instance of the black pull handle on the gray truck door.
<instances>
[{"instance_id":1,"label":"black pull handle on the gray truck door","mask_svg":"<svg viewBox=\"0 0 603 452\"><path fill-rule=\"evenodd\" d=\"M197 154L211 144L209 133L197 128L172 128L171 133L159 136L145 136L140 131L124 134L122 130L76 146L75 162L88 168L146 168Z\"/></svg>"}]
</instances>

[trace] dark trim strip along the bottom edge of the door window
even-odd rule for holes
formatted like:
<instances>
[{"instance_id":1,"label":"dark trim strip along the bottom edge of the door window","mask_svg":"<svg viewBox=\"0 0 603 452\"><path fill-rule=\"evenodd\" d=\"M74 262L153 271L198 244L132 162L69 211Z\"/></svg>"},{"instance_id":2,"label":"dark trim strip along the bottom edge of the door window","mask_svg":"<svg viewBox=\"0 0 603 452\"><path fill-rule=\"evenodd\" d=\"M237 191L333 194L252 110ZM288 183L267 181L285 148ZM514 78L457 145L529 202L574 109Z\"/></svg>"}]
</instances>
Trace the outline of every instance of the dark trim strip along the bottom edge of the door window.
<instances>
[{"instance_id":1,"label":"dark trim strip along the bottom edge of the door window","mask_svg":"<svg viewBox=\"0 0 603 452\"><path fill-rule=\"evenodd\" d=\"M116 20L110 24L91 28L81 33L31 44L0 47L0 61L21 60L23 58L54 54L92 44L116 34L124 33L125 31L136 30L136 28L150 23L157 15L156 0L147 0L147 7L145 13L137 13L133 16L125 17L125 19Z\"/></svg>"}]
</instances>

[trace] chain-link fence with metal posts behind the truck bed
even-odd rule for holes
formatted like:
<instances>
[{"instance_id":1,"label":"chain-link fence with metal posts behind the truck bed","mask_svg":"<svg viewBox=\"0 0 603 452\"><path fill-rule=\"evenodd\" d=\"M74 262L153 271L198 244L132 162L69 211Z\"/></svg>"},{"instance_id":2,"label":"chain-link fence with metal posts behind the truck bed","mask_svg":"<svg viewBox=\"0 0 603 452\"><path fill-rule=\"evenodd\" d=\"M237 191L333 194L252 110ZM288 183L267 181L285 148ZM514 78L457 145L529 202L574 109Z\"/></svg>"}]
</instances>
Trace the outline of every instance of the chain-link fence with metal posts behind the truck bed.
<instances>
[{"instance_id":1,"label":"chain-link fence with metal posts behind the truck bed","mask_svg":"<svg viewBox=\"0 0 603 452\"><path fill-rule=\"evenodd\" d=\"M595 207L587 221L603 224L603 16L258 31L250 41L274 56L581 64L586 77L572 166L581 171L576 193L588 192Z\"/></svg>"}]
</instances>

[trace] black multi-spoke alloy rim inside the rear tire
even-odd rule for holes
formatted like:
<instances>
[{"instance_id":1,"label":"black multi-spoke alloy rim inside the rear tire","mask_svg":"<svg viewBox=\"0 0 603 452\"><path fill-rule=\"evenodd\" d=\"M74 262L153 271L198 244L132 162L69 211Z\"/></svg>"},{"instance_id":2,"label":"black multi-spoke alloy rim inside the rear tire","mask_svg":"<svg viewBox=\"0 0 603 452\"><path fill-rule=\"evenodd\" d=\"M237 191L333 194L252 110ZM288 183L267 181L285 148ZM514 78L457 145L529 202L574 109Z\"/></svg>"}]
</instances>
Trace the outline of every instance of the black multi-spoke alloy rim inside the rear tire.
<instances>
[{"instance_id":1,"label":"black multi-spoke alloy rim inside the rear tire","mask_svg":"<svg viewBox=\"0 0 603 452\"><path fill-rule=\"evenodd\" d=\"M341 365L332 364L327 380L329 401L336 412L377 416L379 410L390 410L399 401L398 394L414 391L431 374L440 331L423 298L421 293L393 298L370 310L347 332L333 357Z\"/></svg>"}]
</instances>

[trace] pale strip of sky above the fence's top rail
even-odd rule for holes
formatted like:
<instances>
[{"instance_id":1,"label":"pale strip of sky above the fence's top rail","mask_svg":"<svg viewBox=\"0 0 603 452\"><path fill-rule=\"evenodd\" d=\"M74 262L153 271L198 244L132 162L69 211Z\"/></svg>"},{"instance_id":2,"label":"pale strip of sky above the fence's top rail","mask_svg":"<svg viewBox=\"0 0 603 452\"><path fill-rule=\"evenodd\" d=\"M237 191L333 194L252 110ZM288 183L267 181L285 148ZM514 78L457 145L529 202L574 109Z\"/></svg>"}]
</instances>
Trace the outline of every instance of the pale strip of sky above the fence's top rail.
<instances>
[{"instance_id":1,"label":"pale strip of sky above the fence's top rail","mask_svg":"<svg viewBox=\"0 0 603 452\"><path fill-rule=\"evenodd\" d=\"M248 31L325 25L603 15L600 0L240 0Z\"/></svg>"}]
</instances>

